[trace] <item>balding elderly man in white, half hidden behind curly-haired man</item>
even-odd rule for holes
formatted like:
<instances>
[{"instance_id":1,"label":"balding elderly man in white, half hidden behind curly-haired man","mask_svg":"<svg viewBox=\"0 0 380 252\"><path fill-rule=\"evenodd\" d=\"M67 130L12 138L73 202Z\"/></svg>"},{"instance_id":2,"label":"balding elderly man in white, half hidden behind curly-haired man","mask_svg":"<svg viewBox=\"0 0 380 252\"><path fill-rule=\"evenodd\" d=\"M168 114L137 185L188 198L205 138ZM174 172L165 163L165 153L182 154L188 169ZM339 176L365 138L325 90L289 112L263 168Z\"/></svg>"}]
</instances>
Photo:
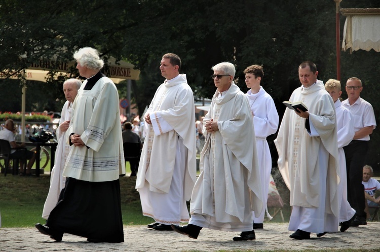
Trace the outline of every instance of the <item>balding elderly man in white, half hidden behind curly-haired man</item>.
<instances>
[{"instance_id":1,"label":"balding elderly man in white, half hidden behind curly-haired man","mask_svg":"<svg viewBox=\"0 0 380 252\"><path fill-rule=\"evenodd\" d=\"M42 218L48 219L50 212L57 205L59 193L65 187L66 178L62 176L63 167L70 150L70 145L66 141L66 131L71 120L72 103L77 96L78 89L82 82L78 79L68 79L63 83L63 92L66 103L63 105L59 126L57 128L57 150L55 152L54 167L50 174L50 188L46 197Z\"/></svg>"}]
</instances>

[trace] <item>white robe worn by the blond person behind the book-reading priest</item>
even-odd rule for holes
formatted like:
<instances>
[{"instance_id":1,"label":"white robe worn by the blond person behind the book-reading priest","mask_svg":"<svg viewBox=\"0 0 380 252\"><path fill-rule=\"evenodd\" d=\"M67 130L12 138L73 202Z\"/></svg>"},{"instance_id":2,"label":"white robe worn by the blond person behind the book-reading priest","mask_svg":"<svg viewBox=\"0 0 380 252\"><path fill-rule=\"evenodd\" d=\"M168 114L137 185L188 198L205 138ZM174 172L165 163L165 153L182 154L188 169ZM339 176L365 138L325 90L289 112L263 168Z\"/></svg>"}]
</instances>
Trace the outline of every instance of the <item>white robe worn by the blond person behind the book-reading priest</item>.
<instances>
[{"instance_id":1,"label":"white robe worn by the blond person behind the book-reading priest","mask_svg":"<svg viewBox=\"0 0 380 252\"><path fill-rule=\"evenodd\" d=\"M341 106L339 99L335 102L336 111L336 127L338 134L338 154L339 154L339 169L340 169L340 183L338 185L339 193L339 222L350 220L355 215L355 210L351 207L347 199L347 170L346 170L346 156L343 149L344 146L349 144L355 135L354 123L351 120L351 112Z\"/></svg>"}]
</instances>

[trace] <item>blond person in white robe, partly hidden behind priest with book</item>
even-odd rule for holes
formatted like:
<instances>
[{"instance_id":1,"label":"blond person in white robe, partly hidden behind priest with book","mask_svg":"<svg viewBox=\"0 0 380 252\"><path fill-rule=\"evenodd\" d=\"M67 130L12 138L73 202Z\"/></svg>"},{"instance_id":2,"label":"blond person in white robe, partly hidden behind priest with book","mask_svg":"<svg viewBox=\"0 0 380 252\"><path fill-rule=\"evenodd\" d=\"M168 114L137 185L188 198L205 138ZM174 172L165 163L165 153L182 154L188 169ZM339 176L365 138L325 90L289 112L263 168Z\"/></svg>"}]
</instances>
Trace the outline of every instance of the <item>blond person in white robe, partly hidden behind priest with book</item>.
<instances>
[{"instance_id":1,"label":"blond person in white robe, partly hidden behind priest with book","mask_svg":"<svg viewBox=\"0 0 380 252\"><path fill-rule=\"evenodd\" d=\"M347 199L347 171L346 156L343 147L348 145L355 135L354 123L351 120L351 112L341 106L339 97L341 95L340 81L329 79L325 84L326 91L331 95L335 105L336 112L336 128L338 135L338 155L339 155L339 171L340 183L338 185L339 193L339 224L340 231L346 231L351 224L351 219L355 215L355 210L351 207Z\"/></svg>"}]
</instances>

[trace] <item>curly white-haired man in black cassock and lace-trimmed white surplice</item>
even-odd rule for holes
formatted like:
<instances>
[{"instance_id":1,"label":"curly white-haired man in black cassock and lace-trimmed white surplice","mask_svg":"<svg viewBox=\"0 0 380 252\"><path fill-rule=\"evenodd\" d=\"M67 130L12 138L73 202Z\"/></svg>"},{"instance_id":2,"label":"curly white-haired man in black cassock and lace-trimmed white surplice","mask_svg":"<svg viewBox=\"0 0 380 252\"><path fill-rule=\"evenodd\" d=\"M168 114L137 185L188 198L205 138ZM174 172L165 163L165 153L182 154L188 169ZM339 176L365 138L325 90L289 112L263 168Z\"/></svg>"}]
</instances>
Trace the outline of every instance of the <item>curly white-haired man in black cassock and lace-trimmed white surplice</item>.
<instances>
[{"instance_id":1,"label":"curly white-haired man in black cassock and lace-trimmed white surplice","mask_svg":"<svg viewBox=\"0 0 380 252\"><path fill-rule=\"evenodd\" d=\"M63 233L89 242L123 242L119 176L125 174L119 94L100 72L103 60L96 49L74 53L86 80L72 105L67 141L71 145L63 176L66 184L46 225L35 227L56 241Z\"/></svg>"}]
</instances>

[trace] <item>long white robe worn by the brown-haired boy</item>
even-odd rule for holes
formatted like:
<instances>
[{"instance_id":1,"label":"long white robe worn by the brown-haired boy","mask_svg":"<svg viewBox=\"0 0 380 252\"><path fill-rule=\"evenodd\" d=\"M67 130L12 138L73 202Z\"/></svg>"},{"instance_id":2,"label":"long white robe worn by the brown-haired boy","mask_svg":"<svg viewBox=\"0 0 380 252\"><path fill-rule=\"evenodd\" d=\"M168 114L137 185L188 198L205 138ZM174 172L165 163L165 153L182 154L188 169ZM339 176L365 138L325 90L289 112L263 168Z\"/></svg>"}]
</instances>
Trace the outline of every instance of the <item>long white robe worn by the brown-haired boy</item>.
<instances>
[{"instance_id":1,"label":"long white robe worn by the brown-haired boy","mask_svg":"<svg viewBox=\"0 0 380 252\"><path fill-rule=\"evenodd\" d=\"M279 123L279 116L276 110L275 102L271 95L260 86L257 93L248 90L249 107L253 113L253 125L255 128L256 147L258 157L258 167L262 182L262 199L263 210L258 218L253 217L254 223L263 223L265 210L268 218L272 217L268 213L267 200L269 183L272 171L272 156L269 149L267 137L276 133Z\"/></svg>"}]
</instances>

